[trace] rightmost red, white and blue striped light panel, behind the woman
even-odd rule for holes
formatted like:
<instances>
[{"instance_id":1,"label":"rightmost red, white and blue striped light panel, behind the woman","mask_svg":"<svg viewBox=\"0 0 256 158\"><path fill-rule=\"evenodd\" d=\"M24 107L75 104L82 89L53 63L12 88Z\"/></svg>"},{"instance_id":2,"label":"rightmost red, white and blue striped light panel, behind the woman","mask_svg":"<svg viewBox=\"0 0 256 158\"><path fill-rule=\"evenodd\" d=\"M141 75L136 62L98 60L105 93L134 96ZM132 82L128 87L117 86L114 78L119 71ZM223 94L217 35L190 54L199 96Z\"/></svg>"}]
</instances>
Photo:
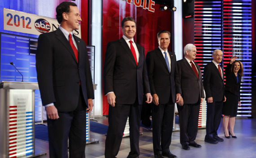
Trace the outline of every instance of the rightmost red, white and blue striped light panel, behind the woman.
<instances>
[{"instance_id":1,"label":"rightmost red, white and blue striped light panel, behind the woman","mask_svg":"<svg viewBox=\"0 0 256 158\"><path fill-rule=\"evenodd\" d=\"M238 115L251 117L252 113L252 1L223 0L224 63L236 55L243 63Z\"/></svg>"}]
</instances>

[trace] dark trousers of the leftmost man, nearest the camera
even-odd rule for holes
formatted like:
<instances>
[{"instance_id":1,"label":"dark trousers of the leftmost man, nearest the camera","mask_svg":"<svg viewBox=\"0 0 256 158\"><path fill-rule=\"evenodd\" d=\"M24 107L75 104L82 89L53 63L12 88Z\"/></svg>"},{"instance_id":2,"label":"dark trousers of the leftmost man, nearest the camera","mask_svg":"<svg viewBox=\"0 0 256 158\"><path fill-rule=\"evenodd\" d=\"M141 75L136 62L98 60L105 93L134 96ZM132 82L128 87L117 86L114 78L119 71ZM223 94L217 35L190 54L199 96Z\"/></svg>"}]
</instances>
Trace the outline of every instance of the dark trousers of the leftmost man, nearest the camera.
<instances>
[{"instance_id":1,"label":"dark trousers of the leftmost man, nearest the camera","mask_svg":"<svg viewBox=\"0 0 256 158\"><path fill-rule=\"evenodd\" d=\"M85 158L86 103L81 90L77 108L58 115L55 120L47 118L50 158L68 158L68 140L69 158Z\"/></svg>"}]
</instances>

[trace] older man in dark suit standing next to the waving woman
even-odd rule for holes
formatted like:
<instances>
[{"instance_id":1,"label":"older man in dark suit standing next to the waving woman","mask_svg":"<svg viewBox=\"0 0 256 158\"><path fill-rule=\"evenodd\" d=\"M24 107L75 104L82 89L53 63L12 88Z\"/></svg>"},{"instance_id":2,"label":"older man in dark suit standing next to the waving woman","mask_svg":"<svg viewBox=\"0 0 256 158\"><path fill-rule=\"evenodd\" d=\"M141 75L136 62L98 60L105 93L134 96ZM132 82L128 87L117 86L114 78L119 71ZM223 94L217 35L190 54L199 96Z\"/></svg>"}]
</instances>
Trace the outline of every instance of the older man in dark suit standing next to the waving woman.
<instances>
[{"instance_id":1,"label":"older man in dark suit standing next to the waving woman","mask_svg":"<svg viewBox=\"0 0 256 158\"><path fill-rule=\"evenodd\" d=\"M203 70L203 87L207 101L206 136L204 141L217 144L224 141L217 134L221 123L221 112L224 94L224 73L220 66L223 53L216 49L212 53L212 62L208 63Z\"/></svg>"}]
</instances>

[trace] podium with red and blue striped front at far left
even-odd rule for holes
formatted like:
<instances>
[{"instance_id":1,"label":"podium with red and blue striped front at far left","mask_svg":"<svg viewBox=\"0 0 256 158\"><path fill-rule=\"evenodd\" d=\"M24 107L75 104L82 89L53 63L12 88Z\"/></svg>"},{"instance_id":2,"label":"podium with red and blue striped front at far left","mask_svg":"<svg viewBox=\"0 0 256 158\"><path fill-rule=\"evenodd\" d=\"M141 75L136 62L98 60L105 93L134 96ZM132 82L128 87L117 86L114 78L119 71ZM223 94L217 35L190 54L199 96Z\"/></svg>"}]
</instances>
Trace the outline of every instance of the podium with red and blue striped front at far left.
<instances>
[{"instance_id":1,"label":"podium with red and blue striped front at far left","mask_svg":"<svg viewBox=\"0 0 256 158\"><path fill-rule=\"evenodd\" d=\"M31 158L35 151L34 82L0 83L0 158Z\"/></svg>"}]
</instances>

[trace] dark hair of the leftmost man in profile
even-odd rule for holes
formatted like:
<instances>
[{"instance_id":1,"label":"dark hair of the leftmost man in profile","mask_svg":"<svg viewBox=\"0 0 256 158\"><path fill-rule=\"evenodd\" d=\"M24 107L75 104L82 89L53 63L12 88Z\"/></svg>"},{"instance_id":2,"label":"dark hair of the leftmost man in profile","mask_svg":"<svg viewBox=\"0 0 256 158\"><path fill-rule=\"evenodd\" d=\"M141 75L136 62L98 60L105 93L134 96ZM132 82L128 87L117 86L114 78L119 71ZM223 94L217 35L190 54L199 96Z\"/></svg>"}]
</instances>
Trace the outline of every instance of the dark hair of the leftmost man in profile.
<instances>
[{"instance_id":1,"label":"dark hair of the leftmost man in profile","mask_svg":"<svg viewBox=\"0 0 256 158\"><path fill-rule=\"evenodd\" d=\"M56 8L56 18L58 23L60 24L62 22L62 13L68 13L70 11L70 6L77 6L75 3L73 2L62 2L61 4L59 4Z\"/></svg>"}]
</instances>

